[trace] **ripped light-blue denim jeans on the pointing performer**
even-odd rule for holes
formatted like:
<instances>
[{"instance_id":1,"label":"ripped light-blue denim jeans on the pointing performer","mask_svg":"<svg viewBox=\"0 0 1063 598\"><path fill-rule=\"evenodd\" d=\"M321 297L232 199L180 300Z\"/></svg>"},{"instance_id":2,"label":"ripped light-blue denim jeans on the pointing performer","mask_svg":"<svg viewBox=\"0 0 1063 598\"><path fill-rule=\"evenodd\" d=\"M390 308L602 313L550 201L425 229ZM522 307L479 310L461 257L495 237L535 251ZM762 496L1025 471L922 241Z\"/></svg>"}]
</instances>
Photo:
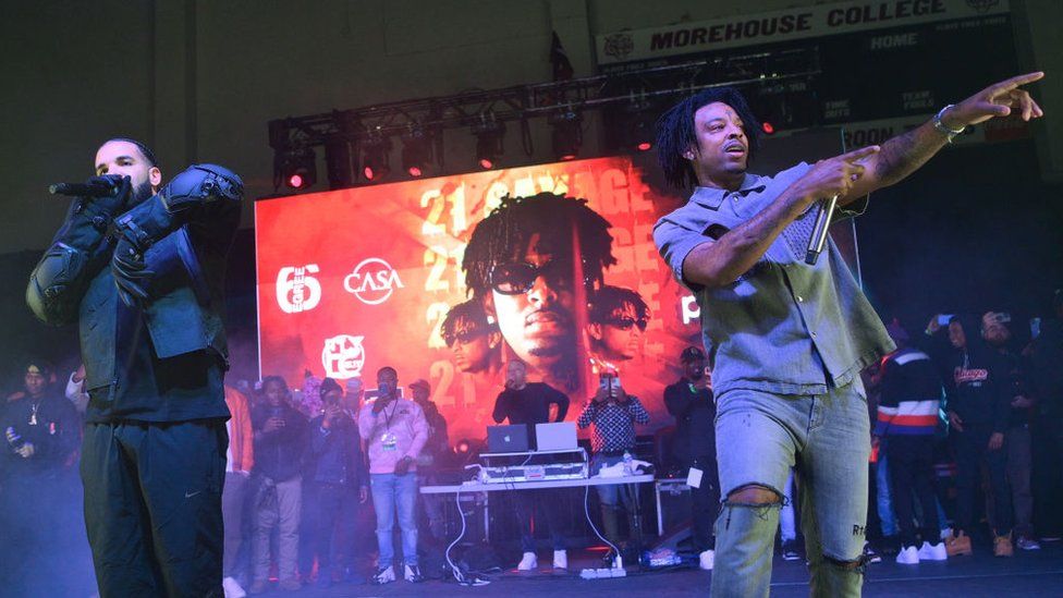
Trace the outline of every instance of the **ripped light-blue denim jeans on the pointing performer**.
<instances>
[{"instance_id":1,"label":"ripped light-blue denim jeans on the pointing performer","mask_svg":"<svg viewBox=\"0 0 1063 598\"><path fill-rule=\"evenodd\" d=\"M783 488L798 477L811 596L859 596L867 523L870 428L859 382L821 395L734 389L717 398L722 496L774 491L770 504L723 499L716 522L712 596L767 597Z\"/></svg>"}]
</instances>

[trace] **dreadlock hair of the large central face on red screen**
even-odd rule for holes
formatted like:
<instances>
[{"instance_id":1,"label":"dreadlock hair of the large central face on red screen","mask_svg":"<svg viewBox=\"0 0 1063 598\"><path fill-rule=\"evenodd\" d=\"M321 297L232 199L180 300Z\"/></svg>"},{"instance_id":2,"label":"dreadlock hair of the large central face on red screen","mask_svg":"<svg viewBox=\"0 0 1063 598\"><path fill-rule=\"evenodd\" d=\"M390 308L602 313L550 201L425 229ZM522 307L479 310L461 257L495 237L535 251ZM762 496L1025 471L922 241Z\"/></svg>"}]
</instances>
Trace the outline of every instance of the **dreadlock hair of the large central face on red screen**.
<instances>
[{"instance_id":1,"label":"dreadlock hair of the large central face on red screen","mask_svg":"<svg viewBox=\"0 0 1063 598\"><path fill-rule=\"evenodd\" d=\"M538 233L539 247L557 258L572 257L572 229L579 237L584 277L601 282L602 270L616 258L609 221L587 207L586 199L540 193L530 197L502 197L499 207L476 224L465 247L462 269L474 297L490 290L491 269L499 263L523 258L532 235Z\"/></svg>"}]
</instances>

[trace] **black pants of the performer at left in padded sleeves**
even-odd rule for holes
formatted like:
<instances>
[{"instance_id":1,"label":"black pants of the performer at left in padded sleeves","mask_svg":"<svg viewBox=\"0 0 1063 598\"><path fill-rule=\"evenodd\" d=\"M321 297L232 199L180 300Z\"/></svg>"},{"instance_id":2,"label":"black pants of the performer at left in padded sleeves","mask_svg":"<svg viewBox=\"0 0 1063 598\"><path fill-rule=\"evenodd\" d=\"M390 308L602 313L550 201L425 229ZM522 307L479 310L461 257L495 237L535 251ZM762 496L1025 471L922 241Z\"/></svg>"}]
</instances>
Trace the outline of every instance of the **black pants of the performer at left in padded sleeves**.
<instances>
[{"instance_id":1,"label":"black pants of the performer at left in padded sleeves","mask_svg":"<svg viewBox=\"0 0 1063 598\"><path fill-rule=\"evenodd\" d=\"M221 420L88 424L85 525L101 598L222 596Z\"/></svg>"}]
</instances>

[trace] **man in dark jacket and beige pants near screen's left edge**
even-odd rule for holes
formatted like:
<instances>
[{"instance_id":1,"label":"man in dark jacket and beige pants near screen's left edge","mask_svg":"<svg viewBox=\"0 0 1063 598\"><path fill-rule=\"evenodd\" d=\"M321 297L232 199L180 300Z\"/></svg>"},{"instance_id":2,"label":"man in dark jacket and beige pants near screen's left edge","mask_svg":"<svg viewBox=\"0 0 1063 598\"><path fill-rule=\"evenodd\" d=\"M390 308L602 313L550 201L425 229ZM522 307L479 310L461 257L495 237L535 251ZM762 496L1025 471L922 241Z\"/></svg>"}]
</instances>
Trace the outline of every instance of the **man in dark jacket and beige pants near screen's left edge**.
<instances>
[{"instance_id":1,"label":"man in dark jacket and beige pants near screen's left edge","mask_svg":"<svg viewBox=\"0 0 1063 598\"><path fill-rule=\"evenodd\" d=\"M303 509L303 452L307 424L291 405L291 391L280 376L262 380L265 403L252 411L255 434L255 467L258 484L255 496L254 581L251 594L268 589L270 536L277 529L277 565L280 587L302 587L296 573L300 517Z\"/></svg>"}]
</instances>

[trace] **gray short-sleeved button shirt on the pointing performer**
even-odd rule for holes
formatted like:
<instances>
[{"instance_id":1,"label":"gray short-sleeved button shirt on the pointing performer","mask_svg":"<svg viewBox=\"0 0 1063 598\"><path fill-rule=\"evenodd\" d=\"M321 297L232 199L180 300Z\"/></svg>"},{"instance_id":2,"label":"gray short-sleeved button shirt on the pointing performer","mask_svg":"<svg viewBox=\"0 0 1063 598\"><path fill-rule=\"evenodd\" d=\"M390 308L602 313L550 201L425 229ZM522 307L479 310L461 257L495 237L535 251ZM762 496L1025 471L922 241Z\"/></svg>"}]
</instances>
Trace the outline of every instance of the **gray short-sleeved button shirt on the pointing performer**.
<instances>
[{"instance_id":1,"label":"gray short-sleeved button shirt on the pointing performer","mask_svg":"<svg viewBox=\"0 0 1063 598\"><path fill-rule=\"evenodd\" d=\"M746 174L736 192L697 187L682 208L658 220L653 241L701 308L701 338L717 396L731 389L823 394L859 382L859 371L894 349L833 242L816 266L805 252L816 222L809 209L735 282L706 290L686 281L683 260L763 210L811 167L774 176ZM847 206L840 217L856 216Z\"/></svg>"}]
</instances>

